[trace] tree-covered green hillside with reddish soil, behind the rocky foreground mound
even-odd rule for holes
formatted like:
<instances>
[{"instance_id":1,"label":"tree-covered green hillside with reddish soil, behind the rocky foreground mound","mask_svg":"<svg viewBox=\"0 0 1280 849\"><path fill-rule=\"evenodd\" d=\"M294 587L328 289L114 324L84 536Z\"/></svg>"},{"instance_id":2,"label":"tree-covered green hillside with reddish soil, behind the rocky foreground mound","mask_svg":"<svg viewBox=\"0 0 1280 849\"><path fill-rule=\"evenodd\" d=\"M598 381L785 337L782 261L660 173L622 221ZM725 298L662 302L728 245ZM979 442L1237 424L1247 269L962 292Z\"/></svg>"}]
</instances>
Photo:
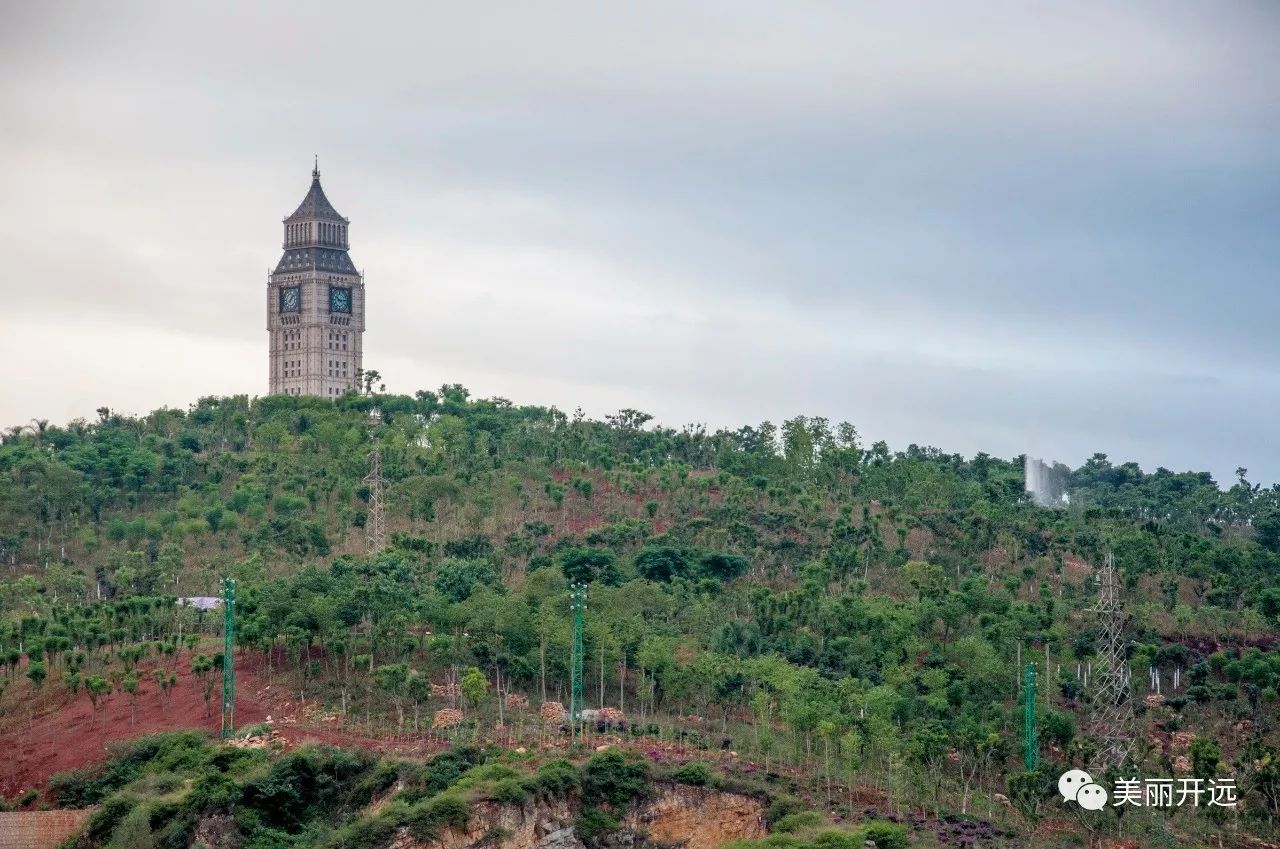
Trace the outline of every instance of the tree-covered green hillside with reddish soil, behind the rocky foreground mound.
<instances>
[{"instance_id":1,"label":"tree-covered green hillside with reddish soil, behind the rocky foreground mound","mask_svg":"<svg viewBox=\"0 0 1280 849\"><path fill-rule=\"evenodd\" d=\"M389 546L370 554L372 451ZM232 576L237 668L276 693L244 695L253 721L291 711L311 726L297 743L420 741L424 757L462 739L563 745L539 708L567 700L581 580L588 706L621 711L594 730L616 745L794 782L827 817L980 813L1039 834L1065 816L1056 776L1096 745L1091 579L1114 552L1135 768L1235 777L1236 826L1274 834L1280 488L1105 455L1062 487L1069 506L1041 507L1021 457L892 451L820 417L675 430L457 385L33 423L0 444L0 739L73 721L119 739L141 702L147 730L205 725L220 621L173 598ZM1032 773L1019 658L1042 677ZM442 711L456 721L433 732ZM1180 812L1178 839L1215 834L1211 814ZM1172 826L1140 811L1124 827Z\"/></svg>"}]
</instances>

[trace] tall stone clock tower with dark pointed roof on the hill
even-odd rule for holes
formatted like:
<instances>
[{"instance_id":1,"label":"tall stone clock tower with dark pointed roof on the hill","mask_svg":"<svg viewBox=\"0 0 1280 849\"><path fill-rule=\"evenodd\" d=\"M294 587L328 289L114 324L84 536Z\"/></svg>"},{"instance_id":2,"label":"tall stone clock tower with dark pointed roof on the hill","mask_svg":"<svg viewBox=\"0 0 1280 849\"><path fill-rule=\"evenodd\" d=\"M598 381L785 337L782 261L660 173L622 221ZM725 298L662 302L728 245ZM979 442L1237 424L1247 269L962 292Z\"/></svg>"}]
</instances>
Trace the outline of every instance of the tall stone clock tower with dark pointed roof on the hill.
<instances>
[{"instance_id":1,"label":"tall stone clock tower with dark pointed roof on the hill","mask_svg":"<svg viewBox=\"0 0 1280 849\"><path fill-rule=\"evenodd\" d=\"M347 254L349 222L320 187L284 219L284 255L266 284L271 394L335 398L357 387L365 334L365 279Z\"/></svg>"}]
</instances>

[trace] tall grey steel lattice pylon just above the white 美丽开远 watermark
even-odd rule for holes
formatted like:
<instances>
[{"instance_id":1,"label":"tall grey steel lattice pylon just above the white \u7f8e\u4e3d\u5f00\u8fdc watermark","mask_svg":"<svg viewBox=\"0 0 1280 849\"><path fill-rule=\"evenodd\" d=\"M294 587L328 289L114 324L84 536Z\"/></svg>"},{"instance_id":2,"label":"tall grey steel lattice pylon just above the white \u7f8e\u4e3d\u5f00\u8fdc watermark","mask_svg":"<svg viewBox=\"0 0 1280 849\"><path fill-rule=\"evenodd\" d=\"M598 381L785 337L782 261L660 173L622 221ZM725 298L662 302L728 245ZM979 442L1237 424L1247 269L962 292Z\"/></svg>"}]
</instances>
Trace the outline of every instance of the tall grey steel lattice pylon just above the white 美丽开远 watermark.
<instances>
[{"instance_id":1,"label":"tall grey steel lattice pylon just above the white \u7f8e\u4e3d\u5f00\u8fdc watermark","mask_svg":"<svg viewBox=\"0 0 1280 849\"><path fill-rule=\"evenodd\" d=\"M1120 583L1115 556L1107 553L1098 572L1098 665L1092 676L1092 729L1098 745L1098 764L1119 767L1134 743L1133 688L1125 658L1125 612L1120 603Z\"/></svg>"}]
</instances>

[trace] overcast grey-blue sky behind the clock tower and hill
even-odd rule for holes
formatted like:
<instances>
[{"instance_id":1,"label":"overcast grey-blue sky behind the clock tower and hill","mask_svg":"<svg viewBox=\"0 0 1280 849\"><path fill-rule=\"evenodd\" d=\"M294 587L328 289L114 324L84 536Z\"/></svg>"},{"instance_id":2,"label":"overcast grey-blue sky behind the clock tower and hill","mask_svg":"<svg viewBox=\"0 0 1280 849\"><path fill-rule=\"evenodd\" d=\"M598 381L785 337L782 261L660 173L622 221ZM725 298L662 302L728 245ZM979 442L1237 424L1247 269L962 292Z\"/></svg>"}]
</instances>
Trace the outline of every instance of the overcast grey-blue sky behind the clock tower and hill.
<instances>
[{"instance_id":1,"label":"overcast grey-blue sky behind the clock tower and hill","mask_svg":"<svg viewBox=\"0 0 1280 849\"><path fill-rule=\"evenodd\" d=\"M1274 3L0 3L0 425L264 393L312 154L393 391L1280 479Z\"/></svg>"}]
</instances>

